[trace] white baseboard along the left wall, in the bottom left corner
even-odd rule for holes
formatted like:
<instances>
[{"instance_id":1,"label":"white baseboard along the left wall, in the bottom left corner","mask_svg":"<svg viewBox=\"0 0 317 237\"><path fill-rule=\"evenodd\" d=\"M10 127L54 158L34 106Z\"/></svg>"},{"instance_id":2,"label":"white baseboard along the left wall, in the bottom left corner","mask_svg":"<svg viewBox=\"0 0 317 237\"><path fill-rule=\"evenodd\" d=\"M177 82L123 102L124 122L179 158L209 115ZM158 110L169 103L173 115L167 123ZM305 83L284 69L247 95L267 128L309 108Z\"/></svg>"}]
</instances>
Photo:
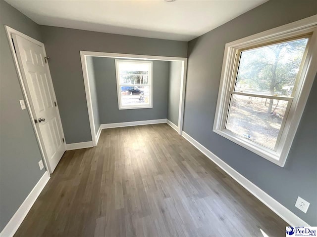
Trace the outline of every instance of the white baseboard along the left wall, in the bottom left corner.
<instances>
[{"instance_id":1,"label":"white baseboard along the left wall, in the bottom left corner","mask_svg":"<svg viewBox=\"0 0 317 237\"><path fill-rule=\"evenodd\" d=\"M3 228L0 233L0 237L12 237L15 234L49 179L50 175L48 171L46 171L29 195L25 198L19 209L14 213L8 224L6 224Z\"/></svg>"}]
</instances>

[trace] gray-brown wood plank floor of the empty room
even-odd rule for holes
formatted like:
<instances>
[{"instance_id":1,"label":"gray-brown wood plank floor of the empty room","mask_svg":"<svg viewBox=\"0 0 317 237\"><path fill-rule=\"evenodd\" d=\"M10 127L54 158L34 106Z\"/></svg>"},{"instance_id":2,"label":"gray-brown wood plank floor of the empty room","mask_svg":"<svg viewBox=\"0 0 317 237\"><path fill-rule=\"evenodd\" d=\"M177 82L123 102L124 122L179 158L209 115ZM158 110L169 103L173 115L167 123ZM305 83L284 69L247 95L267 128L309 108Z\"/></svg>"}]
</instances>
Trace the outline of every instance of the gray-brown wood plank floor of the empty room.
<instances>
[{"instance_id":1,"label":"gray-brown wood plank floor of the empty room","mask_svg":"<svg viewBox=\"0 0 317 237\"><path fill-rule=\"evenodd\" d=\"M281 218L167 124L67 151L15 236L285 236Z\"/></svg>"}]
</instances>

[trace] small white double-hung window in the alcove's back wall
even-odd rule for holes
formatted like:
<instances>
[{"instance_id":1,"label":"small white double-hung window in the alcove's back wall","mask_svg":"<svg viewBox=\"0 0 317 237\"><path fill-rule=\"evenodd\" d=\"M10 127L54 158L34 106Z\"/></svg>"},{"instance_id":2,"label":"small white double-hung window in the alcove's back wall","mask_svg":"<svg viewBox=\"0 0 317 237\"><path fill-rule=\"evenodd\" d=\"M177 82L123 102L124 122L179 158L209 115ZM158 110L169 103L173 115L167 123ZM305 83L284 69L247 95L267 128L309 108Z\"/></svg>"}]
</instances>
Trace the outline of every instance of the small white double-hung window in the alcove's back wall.
<instances>
[{"instance_id":1,"label":"small white double-hung window in the alcove's back wall","mask_svg":"<svg viewBox=\"0 0 317 237\"><path fill-rule=\"evenodd\" d=\"M119 110L153 108L152 62L115 60Z\"/></svg>"}]
</instances>

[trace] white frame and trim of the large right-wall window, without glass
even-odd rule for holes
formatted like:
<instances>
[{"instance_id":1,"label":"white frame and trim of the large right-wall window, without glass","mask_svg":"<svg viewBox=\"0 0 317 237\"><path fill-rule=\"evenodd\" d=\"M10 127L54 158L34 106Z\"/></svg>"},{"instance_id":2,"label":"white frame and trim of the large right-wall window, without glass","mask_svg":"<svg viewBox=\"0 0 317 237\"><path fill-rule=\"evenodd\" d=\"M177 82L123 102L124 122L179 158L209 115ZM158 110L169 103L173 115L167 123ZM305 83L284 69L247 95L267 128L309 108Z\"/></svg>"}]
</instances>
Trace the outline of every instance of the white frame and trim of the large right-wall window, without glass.
<instances>
[{"instance_id":1,"label":"white frame and trim of the large right-wall window, without glass","mask_svg":"<svg viewBox=\"0 0 317 237\"><path fill-rule=\"evenodd\" d=\"M312 35L307 44L306 58L304 54L302 70L300 71L297 79L297 88L294 87L294 98L293 100L290 100L291 104L288 106L288 111L285 112L285 117L287 117L283 120L283 124L281 126L283 131L278 138L275 149L269 149L226 129L225 126L229 111L230 95L236 81L236 64L238 63L238 56L241 50L308 34ZM213 132L283 167L317 73L316 42L317 15L314 15L303 20L227 43L224 50Z\"/></svg>"}]
</instances>

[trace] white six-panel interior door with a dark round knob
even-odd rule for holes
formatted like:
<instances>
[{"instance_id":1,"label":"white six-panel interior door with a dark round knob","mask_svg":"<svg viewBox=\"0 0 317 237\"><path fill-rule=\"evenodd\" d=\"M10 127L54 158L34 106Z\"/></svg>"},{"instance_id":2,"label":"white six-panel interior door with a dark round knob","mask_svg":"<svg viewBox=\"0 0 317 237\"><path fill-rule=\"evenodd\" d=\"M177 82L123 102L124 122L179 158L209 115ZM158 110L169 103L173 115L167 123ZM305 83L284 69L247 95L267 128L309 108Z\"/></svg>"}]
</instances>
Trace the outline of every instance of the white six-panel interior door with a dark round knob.
<instances>
[{"instance_id":1,"label":"white six-panel interior door with a dark round knob","mask_svg":"<svg viewBox=\"0 0 317 237\"><path fill-rule=\"evenodd\" d=\"M12 34L12 39L49 172L53 173L65 145L45 48L18 35Z\"/></svg>"}]
</instances>

